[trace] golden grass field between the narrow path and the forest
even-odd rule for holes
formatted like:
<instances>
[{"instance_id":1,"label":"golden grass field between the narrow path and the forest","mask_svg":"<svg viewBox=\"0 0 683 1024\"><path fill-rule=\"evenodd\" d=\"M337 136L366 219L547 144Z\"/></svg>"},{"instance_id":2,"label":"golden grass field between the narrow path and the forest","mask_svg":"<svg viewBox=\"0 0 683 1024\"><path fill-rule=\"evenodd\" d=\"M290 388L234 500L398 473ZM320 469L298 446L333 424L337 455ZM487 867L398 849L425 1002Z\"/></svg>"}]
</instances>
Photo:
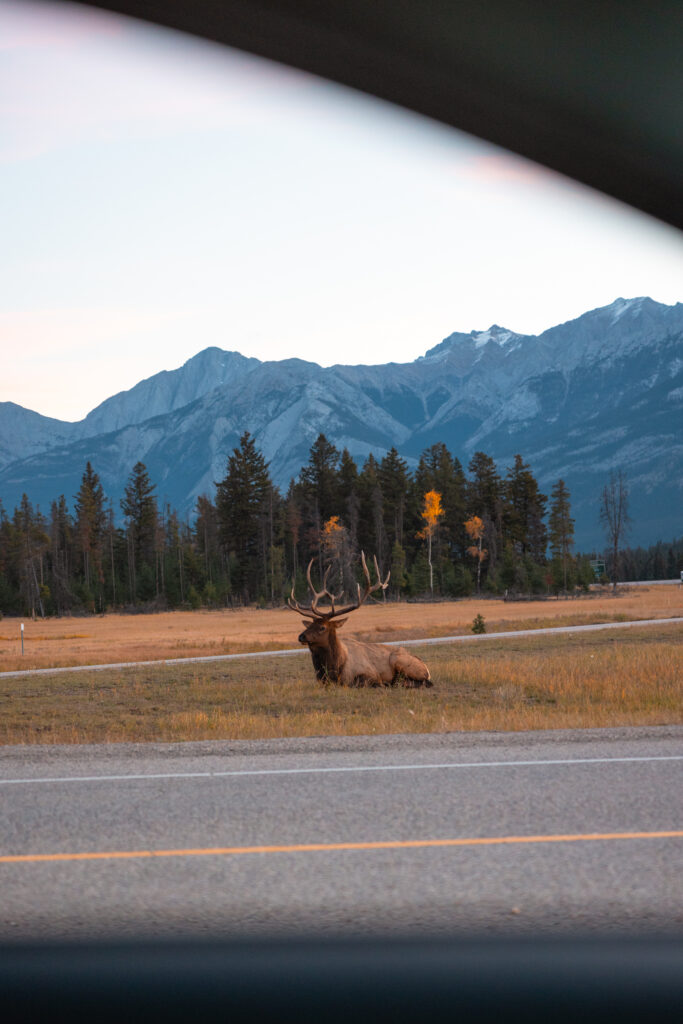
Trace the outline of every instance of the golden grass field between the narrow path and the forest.
<instances>
[{"instance_id":1,"label":"golden grass field between the narrow path and the forest","mask_svg":"<svg viewBox=\"0 0 683 1024\"><path fill-rule=\"evenodd\" d=\"M504 602L467 599L438 604L372 604L346 629L367 640L409 640L469 633L481 612L487 632L683 614L680 586L635 587L580 598ZM296 646L300 617L287 608L169 611L151 615L0 622L0 672L71 665L163 660Z\"/></svg>"}]
</instances>

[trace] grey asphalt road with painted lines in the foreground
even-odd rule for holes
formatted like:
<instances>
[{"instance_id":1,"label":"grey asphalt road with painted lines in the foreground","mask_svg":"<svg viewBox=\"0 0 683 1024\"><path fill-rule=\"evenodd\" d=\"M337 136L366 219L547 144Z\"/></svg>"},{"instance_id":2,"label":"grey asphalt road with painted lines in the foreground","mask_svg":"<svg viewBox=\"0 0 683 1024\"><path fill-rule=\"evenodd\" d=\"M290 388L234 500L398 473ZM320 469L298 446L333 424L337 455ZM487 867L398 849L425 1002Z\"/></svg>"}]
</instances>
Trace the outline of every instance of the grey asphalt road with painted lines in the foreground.
<instances>
[{"instance_id":1,"label":"grey asphalt road with painted lines in the foreground","mask_svg":"<svg viewBox=\"0 0 683 1024\"><path fill-rule=\"evenodd\" d=\"M683 727L0 748L3 942L681 936L682 879Z\"/></svg>"}]
</instances>

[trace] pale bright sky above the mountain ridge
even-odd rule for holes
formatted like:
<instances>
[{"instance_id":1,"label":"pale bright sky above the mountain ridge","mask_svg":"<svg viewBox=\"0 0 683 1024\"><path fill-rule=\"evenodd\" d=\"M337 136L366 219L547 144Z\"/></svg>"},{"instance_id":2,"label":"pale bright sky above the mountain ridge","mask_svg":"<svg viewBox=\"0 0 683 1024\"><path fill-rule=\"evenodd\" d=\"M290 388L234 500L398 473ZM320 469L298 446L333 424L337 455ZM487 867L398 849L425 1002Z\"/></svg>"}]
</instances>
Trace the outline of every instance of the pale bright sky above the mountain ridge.
<instances>
[{"instance_id":1,"label":"pale bright sky above the mountain ridge","mask_svg":"<svg viewBox=\"0 0 683 1024\"><path fill-rule=\"evenodd\" d=\"M0 0L0 401L79 420L209 345L409 361L683 300L683 234L471 136L67 3Z\"/></svg>"}]
</instances>

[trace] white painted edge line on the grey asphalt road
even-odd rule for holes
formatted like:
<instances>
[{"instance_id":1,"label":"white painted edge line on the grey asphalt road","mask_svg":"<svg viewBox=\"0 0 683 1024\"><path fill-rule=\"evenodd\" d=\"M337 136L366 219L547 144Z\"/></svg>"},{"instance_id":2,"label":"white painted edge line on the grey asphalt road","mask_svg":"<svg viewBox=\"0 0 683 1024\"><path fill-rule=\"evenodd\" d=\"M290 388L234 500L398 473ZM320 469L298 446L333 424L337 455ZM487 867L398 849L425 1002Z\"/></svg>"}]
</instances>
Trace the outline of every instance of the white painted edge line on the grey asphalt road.
<instances>
[{"instance_id":1,"label":"white painted edge line on the grey asphalt road","mask_svg":"<svg viewBox=\"0 0 683 1024\"><path fill-rule=\"evenodd\" d=\"M683 761L683 754L630 758L557 758L550 761L456 761L441 764L345 765L330 768L246 768L234 771L150 772L130 775L65 775L46 778L3 778L0 785L30 785L49 782L119 782L173 778L230 778L247 775L326 775L337 772L425 771L453 768L537 768L544 765L635 764L652 761Z\"/></svg>"}]
</instances>

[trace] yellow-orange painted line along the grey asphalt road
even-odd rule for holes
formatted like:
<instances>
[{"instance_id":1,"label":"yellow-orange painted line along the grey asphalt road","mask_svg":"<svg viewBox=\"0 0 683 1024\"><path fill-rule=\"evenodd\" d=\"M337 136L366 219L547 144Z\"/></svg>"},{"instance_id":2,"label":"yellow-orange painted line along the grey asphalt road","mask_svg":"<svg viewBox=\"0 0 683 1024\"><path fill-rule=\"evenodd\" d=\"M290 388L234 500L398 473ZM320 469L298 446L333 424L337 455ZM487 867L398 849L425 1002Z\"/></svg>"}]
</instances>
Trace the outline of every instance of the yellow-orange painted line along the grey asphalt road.
<instances>
[{"instance_id":1,"label":"yellow-orange painted line along the grey asphalt road","mask_svg":"<svg viewBox=\"0 0 683 1024\"><path fill-rule=\"evenodd\" d=\"M291 846L218 846L188 850L113 850L94 853L29 853L0 857L0 864L57 860L134 860L141 857L232 857L248 853L335 853L343 850L417 850L427 847L506 846L529 843L594 843L605 840L683 839L683 829L651 833L587 833L568 836L492 836L481 839L414 839L378 843L304 843Z\"/></svg>"}]
</instances>

